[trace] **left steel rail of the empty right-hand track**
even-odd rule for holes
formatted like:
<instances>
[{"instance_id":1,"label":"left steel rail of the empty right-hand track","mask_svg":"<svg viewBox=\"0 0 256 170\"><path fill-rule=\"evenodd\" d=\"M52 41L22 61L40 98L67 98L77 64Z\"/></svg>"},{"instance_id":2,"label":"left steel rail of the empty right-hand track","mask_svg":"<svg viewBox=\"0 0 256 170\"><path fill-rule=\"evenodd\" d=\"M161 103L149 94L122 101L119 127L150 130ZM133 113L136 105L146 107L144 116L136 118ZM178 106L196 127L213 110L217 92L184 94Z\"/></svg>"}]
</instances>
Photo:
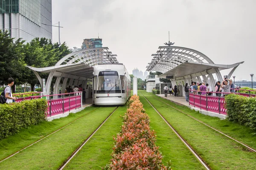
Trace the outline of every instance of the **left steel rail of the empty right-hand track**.
<instances>
[{"instance_id":1,"label":"left steel rail of the empty right-hand track","mask_svg":"<svg viewBox=\"0 0 256 170\"><path fill-rule=\"evenodd\" d=\"M140 94L147 100L147 102L154 108L154 106L148 101L148 99L140 92ZM180 138L180 140L186 145L186 147L194 154L194 156L200 161L200 163L207 169L211 170L211 167L201 158L201 156L193 149L193 147L175 130L174 127L157 111L156 108L154 110L161 116L161 118L166 122L166 124L172 129L172 131Z\"/></svg>"}]
</instances>

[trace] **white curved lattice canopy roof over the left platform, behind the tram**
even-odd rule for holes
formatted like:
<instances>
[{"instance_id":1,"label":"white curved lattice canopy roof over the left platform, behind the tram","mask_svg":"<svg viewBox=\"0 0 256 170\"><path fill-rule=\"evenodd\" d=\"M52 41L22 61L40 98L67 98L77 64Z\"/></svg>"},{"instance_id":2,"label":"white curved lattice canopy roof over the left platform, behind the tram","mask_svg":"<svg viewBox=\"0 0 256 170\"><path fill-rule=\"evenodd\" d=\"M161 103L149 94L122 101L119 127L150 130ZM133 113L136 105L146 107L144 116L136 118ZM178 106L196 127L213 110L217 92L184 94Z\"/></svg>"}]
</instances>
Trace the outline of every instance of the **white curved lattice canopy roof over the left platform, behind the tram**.
<instances>
[{"instance_id":1,"label":"white curved lattice canopy roof over the left platform, behind the tram","mask_svg":"<svg viewBox=\"0 0 256 170\"><path fill-rule=\"evenodd\" d=\"M85 79L93 77L94 65L118 63L116 56L116 54L108 51L108 47L88 48L68 54L52 67L27 67L33 71L44 73L55 71L53 76L62 75L61 77Z\"/></svg>"}]
</instances>

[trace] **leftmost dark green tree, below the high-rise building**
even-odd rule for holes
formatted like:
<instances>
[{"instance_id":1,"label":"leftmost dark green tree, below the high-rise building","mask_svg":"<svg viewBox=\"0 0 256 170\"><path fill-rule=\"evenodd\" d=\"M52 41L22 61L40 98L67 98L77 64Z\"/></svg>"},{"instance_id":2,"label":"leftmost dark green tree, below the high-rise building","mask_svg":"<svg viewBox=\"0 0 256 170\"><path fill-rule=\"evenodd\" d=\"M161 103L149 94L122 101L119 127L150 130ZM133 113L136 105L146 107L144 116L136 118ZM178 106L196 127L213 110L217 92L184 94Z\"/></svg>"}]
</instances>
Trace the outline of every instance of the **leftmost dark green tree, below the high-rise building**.
<instances>
[{"instance_id":1,"label":"leftmost dark green tree, below the high-rise building","mask_svg":"<svg viewBox=\"0 0 256 170\"><path fill-rule=\"evenodd\" d=\"M25 67L23 44L21 39L13 41L8 31L0 30L0 84L7 83L7 79L12 77L15 84L23 83L23 68ZM15 88L15 86L12 86Z\"/></svg>"}]
</instances>

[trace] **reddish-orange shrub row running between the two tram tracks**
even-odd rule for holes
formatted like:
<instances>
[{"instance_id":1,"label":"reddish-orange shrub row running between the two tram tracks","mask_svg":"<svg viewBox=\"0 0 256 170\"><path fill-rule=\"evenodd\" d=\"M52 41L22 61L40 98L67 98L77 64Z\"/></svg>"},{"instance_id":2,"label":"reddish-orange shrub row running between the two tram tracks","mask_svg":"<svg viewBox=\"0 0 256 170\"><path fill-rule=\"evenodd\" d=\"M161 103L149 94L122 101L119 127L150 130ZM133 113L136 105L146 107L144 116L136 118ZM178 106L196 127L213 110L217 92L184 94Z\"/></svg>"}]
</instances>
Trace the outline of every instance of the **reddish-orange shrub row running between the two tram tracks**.
<instances>
[{"instance_id":1,"label":"reddish-orange shrub row running between the two tram tracks","mask_svg":"<svg viewBox=\"0 0 256 170\"><path fill-rule=\"evenodd\" d=\"M149 117L143 109L139 96L131 96L130 107L122 116L124 125L117 134L111 164L105 170L167 170L156 146L154 130L150 130Z\"/></svg>"}]
</instances>

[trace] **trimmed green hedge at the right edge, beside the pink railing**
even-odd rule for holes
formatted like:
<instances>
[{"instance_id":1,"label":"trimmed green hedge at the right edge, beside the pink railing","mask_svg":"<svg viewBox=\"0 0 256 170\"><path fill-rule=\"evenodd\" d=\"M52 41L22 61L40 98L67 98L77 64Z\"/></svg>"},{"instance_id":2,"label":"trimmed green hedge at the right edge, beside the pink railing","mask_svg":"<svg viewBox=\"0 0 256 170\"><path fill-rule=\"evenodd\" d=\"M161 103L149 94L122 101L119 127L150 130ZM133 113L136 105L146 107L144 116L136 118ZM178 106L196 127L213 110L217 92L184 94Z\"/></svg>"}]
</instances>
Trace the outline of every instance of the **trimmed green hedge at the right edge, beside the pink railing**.
<instances>
[{"instance_id":1,"label":"trimmed green hedge at the right edge, beside the pink railing","mask_svg":"<svg viewBox=\"0 0 256 170\"><path fill-rule=\"evenodd\" d=\"M230 94L225 97L227 119L256 130L256 97Z\"/></svg>"}]
</instances>

